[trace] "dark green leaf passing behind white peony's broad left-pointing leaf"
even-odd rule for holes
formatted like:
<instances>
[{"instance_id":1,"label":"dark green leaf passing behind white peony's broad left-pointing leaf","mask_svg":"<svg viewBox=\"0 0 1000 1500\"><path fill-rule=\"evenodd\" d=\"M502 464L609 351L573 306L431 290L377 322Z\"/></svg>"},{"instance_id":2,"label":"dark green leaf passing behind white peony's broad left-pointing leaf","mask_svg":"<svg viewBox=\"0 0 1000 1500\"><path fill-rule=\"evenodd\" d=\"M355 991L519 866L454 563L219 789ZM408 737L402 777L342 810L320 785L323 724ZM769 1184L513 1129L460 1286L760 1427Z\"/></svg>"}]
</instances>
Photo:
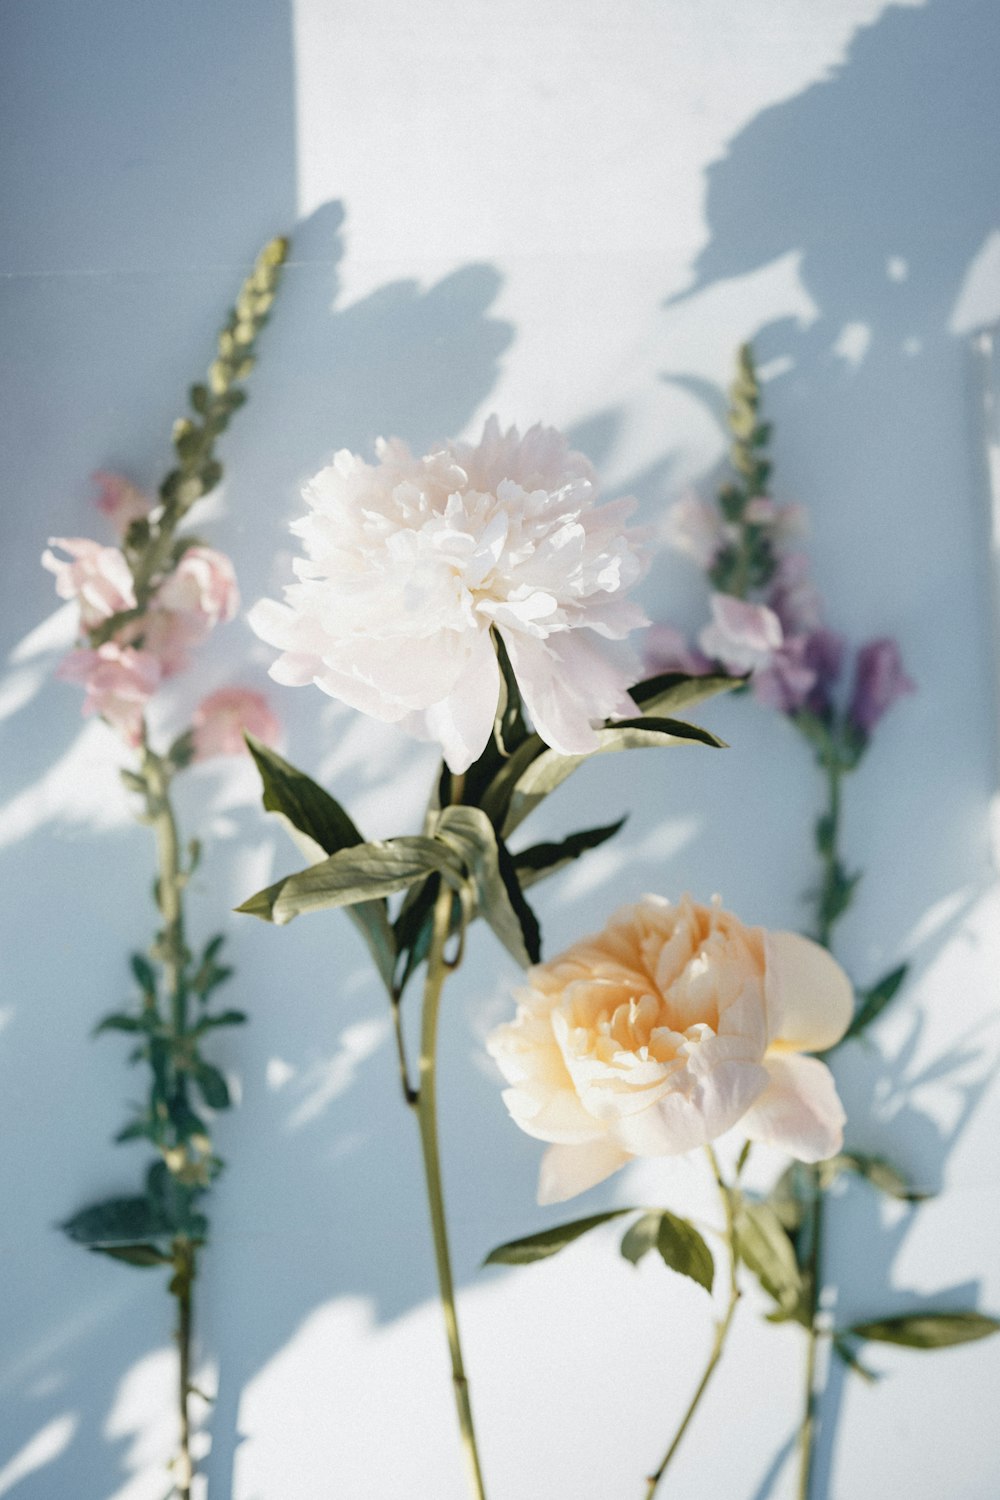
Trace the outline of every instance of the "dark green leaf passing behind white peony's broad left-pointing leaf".
<instances>
[{"instance_id":1,"label":"dark green leaf passing behind white peony's broad left-pointing leaf","mask_svg":"<svg viewBox=\"0 0 1000 1500\"><path fill-rule=\"evenodd\" d=\"M307 860L315 861L316 850L333 855L363 843L348 813L322 786L253 735L247 734L246 742L261 774L267 812L279 813L304 840L316 846L301 849ZM382 982L391 992L396 940L385 898L358 902L348 909L348 915L364 938Z\"/></svg>"}]
</instances>

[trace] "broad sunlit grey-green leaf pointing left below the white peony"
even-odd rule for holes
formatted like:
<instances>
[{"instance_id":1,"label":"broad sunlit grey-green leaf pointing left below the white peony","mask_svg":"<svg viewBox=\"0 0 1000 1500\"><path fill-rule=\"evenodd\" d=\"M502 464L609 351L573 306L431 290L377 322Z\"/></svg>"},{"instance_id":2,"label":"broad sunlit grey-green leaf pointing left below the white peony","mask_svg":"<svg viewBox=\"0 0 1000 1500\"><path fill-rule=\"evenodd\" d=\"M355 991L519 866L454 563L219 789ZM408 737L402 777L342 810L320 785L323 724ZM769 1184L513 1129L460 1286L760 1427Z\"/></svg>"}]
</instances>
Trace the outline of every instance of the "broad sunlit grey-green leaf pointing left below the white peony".
<instances>
[{"instance_id":1,"label":"broad sunlit grey-green leaf pointing left below the white peony","mask_svg":"<svg viewBox=\"0 0 1000 1500\"><path fill-rule=\"evenodd\" d=\"M462 861L441 838L423 834L387 838L340 849L328 860L258 891L237 910L280 927L304 912L391 896L433 872L454 886L462 884Z\"/></svg>"}]
</instances>

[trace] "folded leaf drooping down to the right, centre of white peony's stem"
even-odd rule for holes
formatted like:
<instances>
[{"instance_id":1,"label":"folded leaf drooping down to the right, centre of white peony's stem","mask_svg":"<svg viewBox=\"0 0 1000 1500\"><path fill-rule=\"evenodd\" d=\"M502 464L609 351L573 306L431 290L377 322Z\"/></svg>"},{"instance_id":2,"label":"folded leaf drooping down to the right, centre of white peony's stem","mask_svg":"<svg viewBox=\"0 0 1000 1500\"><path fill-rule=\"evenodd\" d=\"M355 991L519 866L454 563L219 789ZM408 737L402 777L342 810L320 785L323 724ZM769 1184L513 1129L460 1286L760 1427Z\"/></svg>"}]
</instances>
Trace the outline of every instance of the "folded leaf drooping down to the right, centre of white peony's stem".
<instances>
[{"instance_id":1,"label":"folded leaf drooping down to the right, centre of white peony's stem","mask_svg":"<svg viewBox=\"0 0 1000 1500\"><path fill-rule=\"evenodd\" d=\"M511 957L522 966L538 963L541 933L525 900L514 861L481 807L445 807L435 834L462 858L484 916Z\"/></svg>"}]
</instances>

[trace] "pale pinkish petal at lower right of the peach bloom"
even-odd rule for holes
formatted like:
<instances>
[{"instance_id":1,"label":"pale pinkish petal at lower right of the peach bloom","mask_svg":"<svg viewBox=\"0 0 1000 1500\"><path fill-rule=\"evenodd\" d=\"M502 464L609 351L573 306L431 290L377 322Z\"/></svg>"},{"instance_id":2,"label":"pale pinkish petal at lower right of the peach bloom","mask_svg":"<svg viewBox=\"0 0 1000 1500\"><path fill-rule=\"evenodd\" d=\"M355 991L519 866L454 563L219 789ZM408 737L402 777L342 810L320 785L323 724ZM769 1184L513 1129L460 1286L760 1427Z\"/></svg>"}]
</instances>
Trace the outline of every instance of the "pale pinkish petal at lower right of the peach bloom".
<instances>
[{"instance_id":1,"label":"pale pinkish petal at lower right of the peach bloom","mask_svg":"<svg viewBox=\"0 0 1000 1500\"><path fill-rule=\"evenodd\" d=\"M798 1161L835 1156L844 1140L844 1106L834 1074L819 1058L768 1058L771 1083L744 1116L750 1140L787 1150Z\"/></svg>"}]
</instances>

